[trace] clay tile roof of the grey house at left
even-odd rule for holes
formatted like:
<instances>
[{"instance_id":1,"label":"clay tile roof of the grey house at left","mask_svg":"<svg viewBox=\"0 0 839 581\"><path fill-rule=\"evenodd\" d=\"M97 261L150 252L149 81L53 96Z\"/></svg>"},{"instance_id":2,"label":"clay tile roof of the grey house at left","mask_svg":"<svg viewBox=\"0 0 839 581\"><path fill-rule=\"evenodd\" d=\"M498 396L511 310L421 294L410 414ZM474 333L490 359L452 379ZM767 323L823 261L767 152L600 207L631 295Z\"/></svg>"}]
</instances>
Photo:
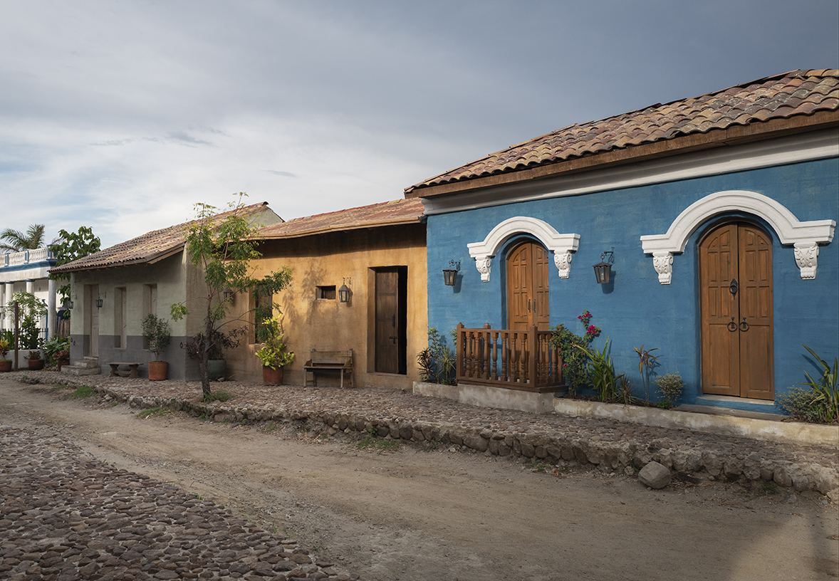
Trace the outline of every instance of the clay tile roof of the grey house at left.
<instances>
[{"instance_id":1,"label":"clay tile roof of the grey house at left","mask_svg":"<svg viewBox=\"0 0 839 581\"><path fill-rule=\"evenodd\" d=\"M268 210L268 202L248 205L242 208L244 215L258 215ZM270 210L268 210L270 211ZM229 212L221 212L215 218L223 218ZM131 240L120 242L99 252L67 262L50 270L52 273L76 272L96 268L122 267L129 264L154 264L170 257L184 246L184 230L192 221L169 226L162 230L146 232Z\"/></svg>"}]
</instances>

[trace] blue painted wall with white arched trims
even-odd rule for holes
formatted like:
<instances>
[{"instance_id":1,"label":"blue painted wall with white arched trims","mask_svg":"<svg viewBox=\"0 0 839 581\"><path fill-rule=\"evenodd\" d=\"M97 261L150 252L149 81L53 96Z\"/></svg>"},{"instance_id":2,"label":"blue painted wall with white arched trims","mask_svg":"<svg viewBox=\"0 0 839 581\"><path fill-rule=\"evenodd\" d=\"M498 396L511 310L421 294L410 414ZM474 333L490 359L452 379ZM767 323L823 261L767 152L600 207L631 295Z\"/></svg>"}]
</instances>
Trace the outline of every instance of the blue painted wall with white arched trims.
<instances>
[{"instance_id":1,"label":"blue painted wall with white arched trims","mask_svg":"<svg viewBox=\"0 0 839 581\"><path fill-rule=\"evenodd\" d=\"M640 236L662 234L682 210L706 195L748 189L786 206L799 220L839 221L839 161L836 158L794 163L769 169L686 179L666 184L618 189L479 210L430 215L428 243L428 318L441 335L461 322L466 327L506 327L503 268L505 252L492 258L490 280L482 283L467 243L483 241L499 222L524 215L545 220L560 233L580 234L570 278L560 279L550 265L550 324L565 324L582 335L577 315L594 315L602 329L594 346L612 340L612 360L640 388L638 356L633 346L658 347L660 374L678 371L685 381L683 402L701 395L697 242L722 218L709 220L692 236L685 252L673 261L669 285L659 284L653 259L645 255ZM732 216L737 214L728 214ZM792 246L782 246L777 233L756 216L773 238L775 396L803 381L815 369L802 344L823 359L839 354L839 241L820 247L818 272L803 280ZM592 265L614 246L612 281L595 282ZM446 287L442 269L461 261L455 287ZM807 355L807 356L805 356Z\"/></svg>"}]
</instances>

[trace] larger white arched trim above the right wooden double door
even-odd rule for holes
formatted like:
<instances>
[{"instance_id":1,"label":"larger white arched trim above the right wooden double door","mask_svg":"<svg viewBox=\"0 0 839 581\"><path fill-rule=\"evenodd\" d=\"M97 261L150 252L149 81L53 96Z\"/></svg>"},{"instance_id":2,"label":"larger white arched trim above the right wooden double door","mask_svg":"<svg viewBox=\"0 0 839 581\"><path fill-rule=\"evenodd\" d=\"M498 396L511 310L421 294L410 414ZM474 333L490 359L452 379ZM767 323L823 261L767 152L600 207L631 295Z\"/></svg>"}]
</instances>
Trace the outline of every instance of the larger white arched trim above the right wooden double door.
<instances>
[{"instance_id":1,"label":"larger white arched trim above the right wooden double door","mask_svg":"<svg viewBox=\"0 0 839 581\"><path fill-rule=\"evenodd\" d=\"M768 196L744 189L731 189L706 195L696 200L673 220L664 234L641 236L645 254L653 255L653 266L659 283L670 284L673 255L685 252L688 238L714 216L725 212L746 212L757 215L772 226L781 244L794 246L795 262L801 278L816 278L819 244L830 244L835 220L800 221L786 206Z\"/></svg>"}]
</instances>

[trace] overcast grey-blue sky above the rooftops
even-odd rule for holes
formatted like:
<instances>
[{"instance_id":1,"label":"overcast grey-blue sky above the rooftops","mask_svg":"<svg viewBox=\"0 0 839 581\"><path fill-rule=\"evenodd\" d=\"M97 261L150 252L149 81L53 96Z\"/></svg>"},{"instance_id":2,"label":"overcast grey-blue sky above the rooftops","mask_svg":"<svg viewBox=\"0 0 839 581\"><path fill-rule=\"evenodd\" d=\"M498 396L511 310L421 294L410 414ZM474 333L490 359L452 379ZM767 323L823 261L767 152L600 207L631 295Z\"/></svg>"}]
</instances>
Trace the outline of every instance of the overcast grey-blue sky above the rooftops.
<instances>
[{"instance_id":1,"label":"overcast grey-blue sky above the rooftops","mask_svg":"<svg viewBox=\"0 0 839 581\"><path fill-rule=\"evenodd\" d=\"M0 0L0 229L284 219L565 127L839 66L836 0Z\"/></svg>"}]
</instances>

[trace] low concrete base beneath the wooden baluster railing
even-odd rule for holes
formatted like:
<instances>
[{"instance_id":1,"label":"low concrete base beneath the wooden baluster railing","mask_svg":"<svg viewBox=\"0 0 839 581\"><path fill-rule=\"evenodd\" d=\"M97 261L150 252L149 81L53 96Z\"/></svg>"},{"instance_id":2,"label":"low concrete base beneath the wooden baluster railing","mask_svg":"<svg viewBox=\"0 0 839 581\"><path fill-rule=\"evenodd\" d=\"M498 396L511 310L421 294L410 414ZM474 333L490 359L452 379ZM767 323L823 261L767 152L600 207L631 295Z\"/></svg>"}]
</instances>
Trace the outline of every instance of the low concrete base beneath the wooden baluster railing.
<instances>
[{"instance_id":1,"label":"low concrete base beneath the wooden baluster railing","mask_svg":"<svg viewBox=\"0 0 839 581\"><path fill-rule=\"evenodd\" d=\"M554 411L553 393L520 392L503 387L473 386L465 383L441 386L423 381L414 381L414 393L420 396L453 399L478 407L500 407L531 413Z\"/></svg>"}]
</instances>

